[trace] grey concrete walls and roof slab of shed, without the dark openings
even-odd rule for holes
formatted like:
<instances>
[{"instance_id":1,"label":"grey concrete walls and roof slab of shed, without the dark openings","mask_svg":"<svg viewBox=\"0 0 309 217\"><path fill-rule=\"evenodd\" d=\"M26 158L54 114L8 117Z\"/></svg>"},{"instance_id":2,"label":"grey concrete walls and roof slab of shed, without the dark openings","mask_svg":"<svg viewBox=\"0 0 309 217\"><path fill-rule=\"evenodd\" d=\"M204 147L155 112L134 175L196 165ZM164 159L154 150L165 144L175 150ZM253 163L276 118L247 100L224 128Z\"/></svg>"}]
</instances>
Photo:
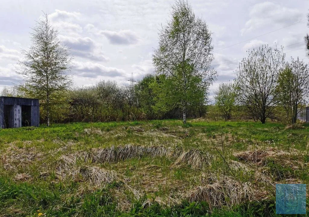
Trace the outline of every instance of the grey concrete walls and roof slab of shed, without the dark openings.
<instances>
[{"instance_id":1,"label":"grey concrete walls and roof slab of shed, without the dark openings","mask_svg":"<svg viewBox=\"0 0 309 217\"><path fill-rule=\"evenodd\" d=\"M38 99L0 97L0 128L5 128L4 114L9 112L8 127L22 126L22 106L31 106L31 126L39 126L40 105ZM5 108L10 111L5 111Z\"/></svg>"}]
</instances>

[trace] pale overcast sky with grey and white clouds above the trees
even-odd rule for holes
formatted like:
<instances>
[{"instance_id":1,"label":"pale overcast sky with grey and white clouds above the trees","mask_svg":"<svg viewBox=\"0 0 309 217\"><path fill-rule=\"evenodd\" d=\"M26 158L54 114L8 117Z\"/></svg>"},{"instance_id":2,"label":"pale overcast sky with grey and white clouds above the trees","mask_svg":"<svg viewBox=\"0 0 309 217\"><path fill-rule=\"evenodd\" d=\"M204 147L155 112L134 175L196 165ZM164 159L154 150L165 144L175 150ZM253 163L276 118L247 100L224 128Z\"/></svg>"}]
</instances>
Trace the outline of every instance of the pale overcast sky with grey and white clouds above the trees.
<instances>
[{"instance_id":1,"label":"pale overcast sky with grey and white clouds above the trees","mask_svg":"<svg viewBox=\"0 0 309 217\"><path fill-rule=\"evenodd\" d=\"M0 91L18 84L16 63L30 46L31 27L49 14L60 40L74 56L71 73L76 85L116 80L127 85L133 73L152 73L151 55L158 29L169 19L171 0L41 1L0 0ZM308 62L303 37L309 33L308 0L191 0L195 14L213 32L217 81L232 80L246 50L261 44L284 46L286 56Z\"/></svg>"}]
</instances>

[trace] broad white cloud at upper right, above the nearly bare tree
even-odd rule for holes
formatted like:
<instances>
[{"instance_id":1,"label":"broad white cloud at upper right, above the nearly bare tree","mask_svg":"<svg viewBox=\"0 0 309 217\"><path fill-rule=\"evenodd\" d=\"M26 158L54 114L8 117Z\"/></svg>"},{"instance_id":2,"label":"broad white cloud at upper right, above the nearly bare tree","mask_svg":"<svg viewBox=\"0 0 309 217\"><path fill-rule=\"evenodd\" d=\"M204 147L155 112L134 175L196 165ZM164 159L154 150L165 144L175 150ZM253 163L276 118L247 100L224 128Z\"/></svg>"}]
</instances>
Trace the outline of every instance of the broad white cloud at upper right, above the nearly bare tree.
<instances>
[{"instance_id":1,"label":"broad white cloud at upper right, above the nearly bare tree","mask_svg":"<svg viewBox=\"0 0 309 217\"><path fill-rule=\"evenodd\" d=\"M244 34L265 25L287 26L303 19L303 13L296 8L288 8L273 2L255 4L249 13L250 19L241 30Z\"/></svg>"}]
</instances>

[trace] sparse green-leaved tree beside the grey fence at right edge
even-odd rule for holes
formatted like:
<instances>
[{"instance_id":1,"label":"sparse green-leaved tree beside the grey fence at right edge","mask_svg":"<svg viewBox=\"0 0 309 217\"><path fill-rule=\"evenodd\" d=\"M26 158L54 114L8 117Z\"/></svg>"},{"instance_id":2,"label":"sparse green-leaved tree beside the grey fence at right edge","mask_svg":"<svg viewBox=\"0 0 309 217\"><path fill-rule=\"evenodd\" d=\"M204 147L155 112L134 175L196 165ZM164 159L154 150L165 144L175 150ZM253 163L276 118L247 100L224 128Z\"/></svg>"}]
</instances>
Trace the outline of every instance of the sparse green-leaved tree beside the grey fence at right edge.
<instances>
[{"instance_id":1,"label":"sparse green-leaved tree beside the grey fence at right edge","mask_svg":"<svg viewBox=\"0 0 309 217\"><path fill-rule=\"evenodd\" d=\"M280 104L291 123L296 123L299 111L306 106L309 95L309 67L303 61L291 59L278 76L277 93Z\"/></svg>"}]
</instances>

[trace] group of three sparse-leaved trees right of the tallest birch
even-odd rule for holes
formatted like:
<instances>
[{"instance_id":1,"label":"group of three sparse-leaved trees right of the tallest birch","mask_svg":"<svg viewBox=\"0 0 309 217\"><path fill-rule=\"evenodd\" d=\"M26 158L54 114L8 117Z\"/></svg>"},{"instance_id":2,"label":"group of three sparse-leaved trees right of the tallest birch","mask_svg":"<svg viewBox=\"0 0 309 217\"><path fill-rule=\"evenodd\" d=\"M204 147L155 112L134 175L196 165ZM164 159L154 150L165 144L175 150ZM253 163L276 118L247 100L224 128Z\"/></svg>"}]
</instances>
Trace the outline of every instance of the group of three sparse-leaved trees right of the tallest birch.
<instances>
[{"instance_id":1,"label":"group of three sparse-leaved trees right of the tallest birch","mask_svg":"<svg viewBox=\"0 0 309 217\"><path fill-rule=\"evenodd\" d=\"M237 109L255 121L297 122L309 97L309 65L285 60L283 49L262 45L248 51L232 83L220 84L215 100L225 120Z\"/></svg>"}]
</instances>

